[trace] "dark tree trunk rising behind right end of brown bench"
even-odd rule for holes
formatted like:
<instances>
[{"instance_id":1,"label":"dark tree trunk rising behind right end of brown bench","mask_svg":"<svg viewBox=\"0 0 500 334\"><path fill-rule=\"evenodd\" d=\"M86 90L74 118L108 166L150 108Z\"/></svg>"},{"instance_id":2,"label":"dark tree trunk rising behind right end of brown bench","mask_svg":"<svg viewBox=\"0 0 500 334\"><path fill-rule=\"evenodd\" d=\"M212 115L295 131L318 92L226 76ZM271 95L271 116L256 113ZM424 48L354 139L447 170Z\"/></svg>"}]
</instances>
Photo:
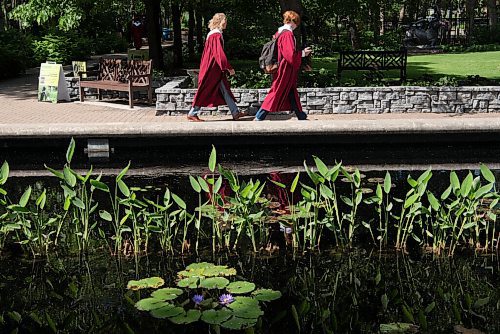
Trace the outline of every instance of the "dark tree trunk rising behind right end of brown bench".
<instances>
[{"instance_id":1,"label":"dark tree trunk rising behind right end of brown bench","mask_svg":"<svg viewBox=\"0 0 500 334\"><path fill-rule=\"evenodd\" d=\"M149 58L153 68L163 70L163 50L161 48L160 0L144 0L148 29Z\"/></svg>"}]
</instances>

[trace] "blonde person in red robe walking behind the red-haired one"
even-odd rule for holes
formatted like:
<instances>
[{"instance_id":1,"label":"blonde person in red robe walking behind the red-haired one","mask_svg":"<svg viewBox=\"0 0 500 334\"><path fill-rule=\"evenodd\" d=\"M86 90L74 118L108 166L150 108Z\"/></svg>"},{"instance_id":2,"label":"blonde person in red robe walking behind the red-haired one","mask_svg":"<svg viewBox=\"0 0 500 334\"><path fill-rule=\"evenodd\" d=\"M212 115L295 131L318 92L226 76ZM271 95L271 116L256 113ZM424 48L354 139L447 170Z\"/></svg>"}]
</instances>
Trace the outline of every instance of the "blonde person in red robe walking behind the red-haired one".
<instances>
[{"instance_id":1,"label":"blonde person in red robe walking behind the red-haired one","mask_svg":"<svg viewBox=\"0 0 500 334\"><path fill-rule=\"evenodd\" d=\"M240 112L231 92L226 75L234 75L234 69L227 61L224 53L224 38L222 31L226 29L227 20L224 13L217 13L210 20L210 32L205 41L201 56L200 73L198 75L198 91L194 96L193 105L188 113L188 120L202 122L198 117L201 107L217 107L227 105L233 116L238 120L246 113Z\"/></svg>"}]
</instances>

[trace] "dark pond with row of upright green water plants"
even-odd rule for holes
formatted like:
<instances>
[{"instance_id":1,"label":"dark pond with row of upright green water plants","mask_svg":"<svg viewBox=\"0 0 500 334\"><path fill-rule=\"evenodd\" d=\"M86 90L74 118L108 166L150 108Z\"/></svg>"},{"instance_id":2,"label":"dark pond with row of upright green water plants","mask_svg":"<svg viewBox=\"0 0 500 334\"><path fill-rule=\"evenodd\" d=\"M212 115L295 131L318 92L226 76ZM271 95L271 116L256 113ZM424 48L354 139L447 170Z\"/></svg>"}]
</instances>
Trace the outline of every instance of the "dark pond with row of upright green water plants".
<instances>
[{"instance_id":1,"label":"dark pond with row of upright green water plants","mask_svg":"<svg viewBox=\"0 0 500 334\"><path fill-rule=\"evenodd\" d=\"M204 166L90 172L70 167L71 146L66 160L49 172L0 169L2 332L500 331L494 163L219 167L213 149ZM200 262L234 272L213 291L206 273L182 285ZM155 289L127 286L148 277L181 288L161 303L184 315L137 304ZM248 297L231 284L251 285L259 311L237 313ZM257 302L260 289L280 296ZM193 304L195 294L213 301ZM209 325L212 309L233 313Z\"/></svg>"}]
</instances>

